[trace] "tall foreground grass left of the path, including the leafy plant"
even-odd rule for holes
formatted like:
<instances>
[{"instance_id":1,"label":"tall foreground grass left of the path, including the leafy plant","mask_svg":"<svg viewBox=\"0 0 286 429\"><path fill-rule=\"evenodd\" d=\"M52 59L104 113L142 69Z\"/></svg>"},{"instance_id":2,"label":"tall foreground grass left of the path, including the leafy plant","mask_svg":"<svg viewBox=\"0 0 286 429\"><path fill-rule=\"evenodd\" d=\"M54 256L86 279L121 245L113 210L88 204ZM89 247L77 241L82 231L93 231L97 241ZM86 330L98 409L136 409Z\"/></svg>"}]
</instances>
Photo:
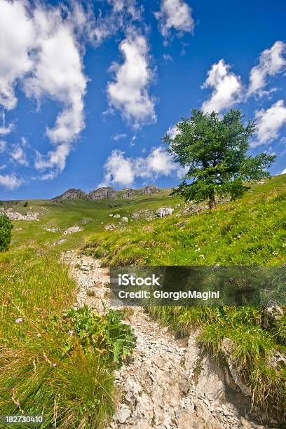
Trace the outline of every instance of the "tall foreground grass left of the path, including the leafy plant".
<instances>
[{"instance_id":1,"label":"tall foreground grass left of the path, including the leafy plant","mask_svg":"<svg viewBox=\"0 0 286 429\"><path fill-rule=\"evenodd\" d=\"M43 428L106 428L114 369L134 336L117 313L69 310L76 285L58 259L39 247L0 255L0 414L43 414Z\"/></svg>"}]
</instances>

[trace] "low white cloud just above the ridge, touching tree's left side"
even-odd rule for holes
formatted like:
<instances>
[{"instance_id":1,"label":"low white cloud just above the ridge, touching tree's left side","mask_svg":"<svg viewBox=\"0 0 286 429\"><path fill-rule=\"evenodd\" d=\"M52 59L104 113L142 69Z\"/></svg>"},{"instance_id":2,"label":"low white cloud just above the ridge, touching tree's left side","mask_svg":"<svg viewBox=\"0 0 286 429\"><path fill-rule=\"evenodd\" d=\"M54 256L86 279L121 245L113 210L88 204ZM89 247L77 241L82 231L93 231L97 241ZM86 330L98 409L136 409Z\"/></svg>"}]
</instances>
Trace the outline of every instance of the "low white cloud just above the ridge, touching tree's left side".
<instances>
[{"instance_id":1,"label":"low white cloud just above the ridge, touching tree's left side","mask_svg":"<svg viewBox=\"0 0 286 429\"><path fill-rule=\"evenodd\" d=\"M135 179L155 180L159 176L179 175L180 169L163 147L153 148L145 158L129 158L122 151L112 151L104 165L100 186L131 186Z\"/></svg>"}]
</instances>

